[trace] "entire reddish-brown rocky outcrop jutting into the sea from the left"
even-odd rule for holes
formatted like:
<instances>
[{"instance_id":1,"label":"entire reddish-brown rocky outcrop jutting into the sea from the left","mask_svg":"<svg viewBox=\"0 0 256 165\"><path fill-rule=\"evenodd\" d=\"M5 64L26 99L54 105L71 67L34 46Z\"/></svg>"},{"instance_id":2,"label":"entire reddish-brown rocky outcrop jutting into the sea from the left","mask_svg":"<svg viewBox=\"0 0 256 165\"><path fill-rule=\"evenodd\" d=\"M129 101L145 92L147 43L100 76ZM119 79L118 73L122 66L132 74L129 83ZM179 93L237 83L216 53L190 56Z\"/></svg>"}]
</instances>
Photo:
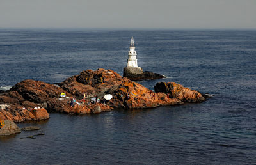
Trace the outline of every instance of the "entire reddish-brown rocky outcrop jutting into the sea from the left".
<instances>
[{"instance_id":1,"label":"entire reddish-brown rocky outcrop jutting into the sea from the left","mask_svg":"<svg viewBox=\"0 0 256 165\"><path fill-rule=\"evenodd\" d=\"M1 127L0 135L20 132L13 126L13 122L48 119L50 111L94 114L111 111L116 107L142 109L205 100L198 91L173 82L160 82L154 88L156 93L113 70L102 68L85 70L58 84L24 80L8 91L0 91L0 121L8 121L8 125ZM64 98L60 98L61 93L65 93ZM113 98L104 100L106 94L111 94ZM91 98L95 96L100 102L92 104ZM73 107L70 107L71 98L77 100ZM8 129L4 129L7 126Z\"/></svg>"}]
</instances>

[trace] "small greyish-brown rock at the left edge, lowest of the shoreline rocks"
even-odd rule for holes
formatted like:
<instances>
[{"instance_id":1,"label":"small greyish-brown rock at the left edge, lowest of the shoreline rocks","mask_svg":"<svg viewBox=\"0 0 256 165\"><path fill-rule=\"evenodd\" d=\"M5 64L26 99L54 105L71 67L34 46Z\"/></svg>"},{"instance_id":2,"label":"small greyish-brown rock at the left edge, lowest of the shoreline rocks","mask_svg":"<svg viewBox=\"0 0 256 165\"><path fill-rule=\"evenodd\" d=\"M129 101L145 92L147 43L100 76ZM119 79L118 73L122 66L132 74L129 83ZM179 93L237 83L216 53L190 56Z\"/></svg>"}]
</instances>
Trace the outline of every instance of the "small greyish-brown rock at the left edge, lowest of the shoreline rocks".
<instances>
[{"instance_id":1,"label":"small greyish-brown rock at the left edge, lowest of the shoreline rocks","mask_svg":"<svg viewBox=\"0 0 256 165\"><path fill-rule=\"evenodd\" d=\"M8 136L10 134L20 133L20 128L10 120L0 120L1 128L0 128L0 136Z\"/></svg>"}]
</instances>

